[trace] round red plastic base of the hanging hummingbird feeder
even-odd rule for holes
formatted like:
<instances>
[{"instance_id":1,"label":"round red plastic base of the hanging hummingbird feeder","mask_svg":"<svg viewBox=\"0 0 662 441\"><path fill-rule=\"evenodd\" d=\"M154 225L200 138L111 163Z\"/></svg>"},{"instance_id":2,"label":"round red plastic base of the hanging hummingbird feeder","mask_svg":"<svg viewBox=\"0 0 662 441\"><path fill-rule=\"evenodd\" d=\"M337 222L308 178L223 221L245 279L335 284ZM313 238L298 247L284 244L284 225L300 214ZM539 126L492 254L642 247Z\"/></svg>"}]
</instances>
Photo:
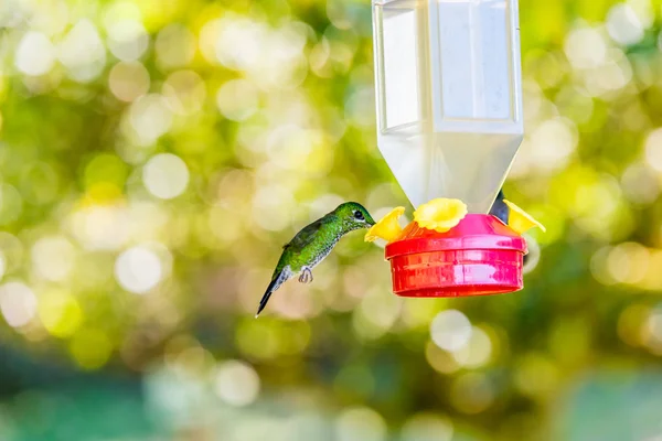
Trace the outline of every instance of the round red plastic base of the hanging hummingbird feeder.
<instances>
[{"instance_id":1,"label":"round red plastic base of the hanging hummingbird feeder","mask_svg":"<svg viewBox=\"0 0 662 441\"><path fill-rule=\"evenodd\" d=\"M502 294L523 287L526 240L488 214L468 214L446 233L409 224L386 246L402 297Z\"/></svg>"}]
</instances>

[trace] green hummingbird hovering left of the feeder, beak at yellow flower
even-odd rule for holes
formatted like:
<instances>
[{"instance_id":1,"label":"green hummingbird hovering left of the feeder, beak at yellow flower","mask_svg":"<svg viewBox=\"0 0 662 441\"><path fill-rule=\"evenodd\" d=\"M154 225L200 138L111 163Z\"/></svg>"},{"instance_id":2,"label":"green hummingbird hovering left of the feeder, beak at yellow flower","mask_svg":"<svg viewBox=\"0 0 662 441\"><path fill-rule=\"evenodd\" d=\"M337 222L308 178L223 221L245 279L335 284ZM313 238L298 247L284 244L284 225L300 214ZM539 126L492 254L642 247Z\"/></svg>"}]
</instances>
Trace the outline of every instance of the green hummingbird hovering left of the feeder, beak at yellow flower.
<instances>
[{"instance_id":1,"label":"green hummingbird hovering left of the feeder, beak at yellow flower","mask_svg":"<svg viewBox=\"0 0 662 441\"><path fill-rule=\"evenodd\" d=\"M329 256L341 237L355 229L369 228L373 225L375 225L375 220L363 205L356 202L345 202L303 227L282 247L282 254L278 259L274 276L271 276L271 282L259 302L255 318L265 309L274 291L287 280L300 275L301 283L310 283L312 269Z\"/></svg>"}]
</instances>

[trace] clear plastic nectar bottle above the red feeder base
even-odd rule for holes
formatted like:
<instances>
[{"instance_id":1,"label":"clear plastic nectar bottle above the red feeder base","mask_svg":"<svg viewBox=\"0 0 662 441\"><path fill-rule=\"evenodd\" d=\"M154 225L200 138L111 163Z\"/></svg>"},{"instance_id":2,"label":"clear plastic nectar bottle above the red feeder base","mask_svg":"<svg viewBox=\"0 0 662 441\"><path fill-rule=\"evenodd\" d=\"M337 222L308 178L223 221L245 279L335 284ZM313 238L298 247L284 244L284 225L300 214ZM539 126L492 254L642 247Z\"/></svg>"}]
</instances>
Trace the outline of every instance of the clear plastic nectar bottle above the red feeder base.
<instances>
[{"instance_id":1,"label":"clear plastic nectar bottle above the red feeder base","mask_svg":"<svg viewBox=\"0 0 662 441\"><path fill-rule=\"evenodd\" d=\"M488 213L524 136L517 0L373 0L377 144L414 206Z\"/></svg>"}]
</instances>

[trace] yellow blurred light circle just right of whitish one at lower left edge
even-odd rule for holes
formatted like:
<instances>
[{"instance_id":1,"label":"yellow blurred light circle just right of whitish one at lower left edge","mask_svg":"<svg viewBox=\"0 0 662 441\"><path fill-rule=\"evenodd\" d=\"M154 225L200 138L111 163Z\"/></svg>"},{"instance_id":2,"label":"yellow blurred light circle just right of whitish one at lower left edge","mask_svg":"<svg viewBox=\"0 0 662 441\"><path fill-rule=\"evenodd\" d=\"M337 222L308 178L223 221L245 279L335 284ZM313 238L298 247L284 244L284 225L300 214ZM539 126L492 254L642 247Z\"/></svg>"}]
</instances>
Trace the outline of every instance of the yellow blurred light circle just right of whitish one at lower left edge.
<instances>
[{"instance_id":1,"label":"yellow blurred light circle just right of whitish one at lower left edge","mask_svg":"<svg viewBox=\"0 0 662 441\"><path fill-rule=\"evenodd\" d=\"M49 333L65 338L83 322L83 310L74 297L64 290L44 292L39 299L39 318Z\"/></svg>"}]
</instances>

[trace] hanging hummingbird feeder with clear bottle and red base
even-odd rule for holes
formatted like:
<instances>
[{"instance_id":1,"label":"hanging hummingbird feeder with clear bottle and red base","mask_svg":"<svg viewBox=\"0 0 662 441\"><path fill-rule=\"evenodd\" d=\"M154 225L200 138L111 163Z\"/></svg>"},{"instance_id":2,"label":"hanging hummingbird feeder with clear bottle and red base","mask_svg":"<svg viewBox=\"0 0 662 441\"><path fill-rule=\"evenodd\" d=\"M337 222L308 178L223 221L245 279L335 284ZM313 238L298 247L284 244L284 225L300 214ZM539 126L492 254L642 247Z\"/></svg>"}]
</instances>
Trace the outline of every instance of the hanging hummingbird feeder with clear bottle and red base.
<instances>
[{"instance_id":1,"label":"hanging hummingbird feeder with clear bottle and red base","mask_svg":"<svg viewBox=\"0 0 662 441\"><path fill-rule=\"evenodd\" d=\"M517 23L517 0L373 0L380 151L414 206L468 209L386 246L398 295L523 287L526 241L488 214L524 136Z\"/></svg>"}]
</instances>

